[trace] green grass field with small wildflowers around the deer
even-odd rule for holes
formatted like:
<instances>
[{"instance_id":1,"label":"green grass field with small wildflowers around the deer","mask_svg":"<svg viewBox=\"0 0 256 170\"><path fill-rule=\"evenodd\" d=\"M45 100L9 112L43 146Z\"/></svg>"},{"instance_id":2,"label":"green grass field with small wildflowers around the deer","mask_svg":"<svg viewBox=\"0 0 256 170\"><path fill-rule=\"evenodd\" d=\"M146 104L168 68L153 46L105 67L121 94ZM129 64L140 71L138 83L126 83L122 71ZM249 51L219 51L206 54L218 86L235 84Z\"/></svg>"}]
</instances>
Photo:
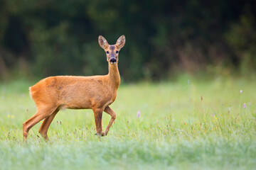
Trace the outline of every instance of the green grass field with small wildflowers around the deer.
<instances>
[{"instance_id":1,"label":"green grass field with small wildflowers around the deer","mask_svg":"<svg viewBox=\"0 0 256 170\"><path fill-rule=\"evenodd\" d=\"M22 123L36 113L28 94L35 82L0 84L0 169L255 169L255 80L122 84L107 137L94 135L91 110L65 110L49 142L38 123L23 144ZM104 129L109 120L104 113Z\"/></svg>"}]
</instances>

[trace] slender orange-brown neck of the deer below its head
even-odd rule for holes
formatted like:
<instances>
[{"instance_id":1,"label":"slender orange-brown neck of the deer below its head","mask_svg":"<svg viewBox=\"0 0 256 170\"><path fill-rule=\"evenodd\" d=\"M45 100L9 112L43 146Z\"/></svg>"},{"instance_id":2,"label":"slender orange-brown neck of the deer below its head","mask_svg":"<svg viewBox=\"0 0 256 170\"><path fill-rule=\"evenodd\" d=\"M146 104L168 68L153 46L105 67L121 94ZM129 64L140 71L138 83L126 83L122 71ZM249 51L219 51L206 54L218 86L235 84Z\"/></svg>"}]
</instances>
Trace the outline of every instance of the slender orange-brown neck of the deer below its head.
<instances>
[{"instance_id":1,"label":"slender orange-brown neck of the deer below its head","mask_svg":"<svg viewBox=\"0 0 256 170\"><path fill-rule=\"evenodd\" d=\"M109 63L109 74L107 75L110 78L110 84L112 85L112 87L117 89L120 84L120 74L117 64Z\"/></svg>"}]
</instances>

